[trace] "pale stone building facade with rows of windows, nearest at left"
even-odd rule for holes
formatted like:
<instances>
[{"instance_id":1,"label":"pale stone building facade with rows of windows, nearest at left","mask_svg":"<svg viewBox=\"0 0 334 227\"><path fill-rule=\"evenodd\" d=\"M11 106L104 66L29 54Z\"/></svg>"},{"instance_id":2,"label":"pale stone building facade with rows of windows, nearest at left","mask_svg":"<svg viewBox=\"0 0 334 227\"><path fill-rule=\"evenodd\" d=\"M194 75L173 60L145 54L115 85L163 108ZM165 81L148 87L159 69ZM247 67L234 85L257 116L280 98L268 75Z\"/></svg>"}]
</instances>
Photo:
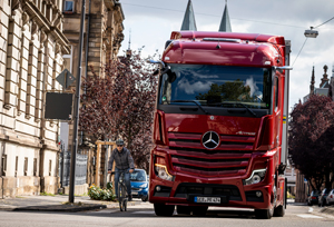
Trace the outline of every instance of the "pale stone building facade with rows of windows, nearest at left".
<instances>
[{"instance_id":1,"label":"pale stone building facade with rows of windows, nearest at left","mask_svg":"<svg viewBox=\"0 0 334 227\"><path fill-rule=\"evenodd\" d=\"M57 121L43 119L46 91L69 52L62 1L0 1L0 198L58 189Z\"/></svg>"}]
</instances>

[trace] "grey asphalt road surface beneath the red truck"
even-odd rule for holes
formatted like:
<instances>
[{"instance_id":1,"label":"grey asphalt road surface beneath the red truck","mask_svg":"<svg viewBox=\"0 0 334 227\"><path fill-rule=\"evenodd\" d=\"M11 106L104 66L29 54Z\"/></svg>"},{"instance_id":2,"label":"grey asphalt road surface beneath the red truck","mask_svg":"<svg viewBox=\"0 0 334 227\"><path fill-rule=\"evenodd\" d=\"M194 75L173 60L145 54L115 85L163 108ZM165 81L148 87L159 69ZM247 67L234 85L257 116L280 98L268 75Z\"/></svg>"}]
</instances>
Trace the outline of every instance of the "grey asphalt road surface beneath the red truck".
<instances>
[{"instance_id":1,"label":"grey asphalt road surface beneath the red truck","mask_svg":"<svg viewBox=\"0 0 334 227\"><path fill-rule=\"evenodd\" d=\"M0 211L0 226L334 226L334 217L320 215L313 206L291 204L283 218L273 217L269 220L255 219L252 210L226 210L209 208L206 217L179 216L157 217L153 205L143 203L128 207L128 211L119 209L102 209L82 213L35 213L35 211Z\"/></svg>"}]
</instances>

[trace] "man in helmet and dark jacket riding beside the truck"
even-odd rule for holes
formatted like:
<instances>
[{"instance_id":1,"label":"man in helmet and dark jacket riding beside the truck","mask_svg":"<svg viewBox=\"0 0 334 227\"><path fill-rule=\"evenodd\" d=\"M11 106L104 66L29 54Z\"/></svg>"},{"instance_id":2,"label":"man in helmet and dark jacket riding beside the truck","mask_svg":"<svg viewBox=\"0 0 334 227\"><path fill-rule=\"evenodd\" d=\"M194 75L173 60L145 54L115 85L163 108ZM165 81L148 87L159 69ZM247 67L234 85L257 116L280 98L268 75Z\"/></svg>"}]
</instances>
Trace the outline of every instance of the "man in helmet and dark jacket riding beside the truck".
<instances>
[{"instance_id":1,"label":"man in helmet and dark jacket riding beside the truck","mask_svg":"<svg viewBox=\"0 0 334 227\"><path fill-rule=\"evenodd\" d=\"M115 162L116 162L116 165L115 165L115 193L116 193L116 196L118 196L119 176L121 172L124 172L124 181L127 186L128 198L129 198L129 201L131 201L132 196L131 196L130 174L135 169L134 158L132 158L130 151L124 147L122 139L116 140L116 145L117 145L117 148L115 148L111 151L111 156L109 158L108 174L111 172L114 160L115 160Z\"/></svg>"}]
</instances>

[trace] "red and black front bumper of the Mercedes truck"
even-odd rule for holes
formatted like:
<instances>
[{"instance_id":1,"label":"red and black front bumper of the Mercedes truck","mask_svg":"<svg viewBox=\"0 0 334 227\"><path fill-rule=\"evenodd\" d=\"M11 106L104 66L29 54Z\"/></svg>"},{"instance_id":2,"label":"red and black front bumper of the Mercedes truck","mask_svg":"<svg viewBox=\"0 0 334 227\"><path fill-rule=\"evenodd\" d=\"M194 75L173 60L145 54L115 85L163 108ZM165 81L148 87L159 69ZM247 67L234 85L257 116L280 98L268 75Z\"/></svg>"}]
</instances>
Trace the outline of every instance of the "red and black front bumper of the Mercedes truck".
<instances>
[{"instance_id":1,"label":"red and black front bumper of the Mercedes truck","mask_svg":"<svg viewBox=\"0 0 334 227\"><path fill-rule=\"evenodd\" d=\"M197 181L197 179L189 178L186 184L174 182L173 185L169 185L163 180L153 179L150 184L151 190L149 193L149 201L167 205L207 205L256 209L267 209L271 206L272 184L243 186L240 179L228 180L228 185L222 184L222 180L210 180L209 184ZM160 189L161 193L156 191L156 186L163 188L163 190ZM183 191L183 188L187 188L187 191ZM261 191L262 196L257 197L256 191ZM220 203L195 203L195 197L219 197Z\"/></svg>"}]
</instances>

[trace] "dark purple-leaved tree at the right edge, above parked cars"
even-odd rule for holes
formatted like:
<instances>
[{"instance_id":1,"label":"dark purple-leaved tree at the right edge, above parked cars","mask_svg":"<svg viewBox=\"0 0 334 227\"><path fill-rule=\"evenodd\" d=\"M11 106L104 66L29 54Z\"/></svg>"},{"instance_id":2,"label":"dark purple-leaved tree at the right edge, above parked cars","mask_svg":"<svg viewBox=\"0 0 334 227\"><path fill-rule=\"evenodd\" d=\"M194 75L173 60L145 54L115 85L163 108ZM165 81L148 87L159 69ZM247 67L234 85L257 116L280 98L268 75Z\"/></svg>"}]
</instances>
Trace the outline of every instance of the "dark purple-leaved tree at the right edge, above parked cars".
<instances>
[{"instance_id":1,"label":"dark purple-leaved tree at the right edge, above parked cars","mask_svg":"<svg viewBox=\"0 0 334 227\"><path fill-rule=\"evenodd\" d=\"M334 102L328 97L311 96L298 103L291 114L288 147L293 165L321 189L325 181L331 188L334 179ZM313 179L313 181L312 181Z\"/></svg>"}]
</instances>

